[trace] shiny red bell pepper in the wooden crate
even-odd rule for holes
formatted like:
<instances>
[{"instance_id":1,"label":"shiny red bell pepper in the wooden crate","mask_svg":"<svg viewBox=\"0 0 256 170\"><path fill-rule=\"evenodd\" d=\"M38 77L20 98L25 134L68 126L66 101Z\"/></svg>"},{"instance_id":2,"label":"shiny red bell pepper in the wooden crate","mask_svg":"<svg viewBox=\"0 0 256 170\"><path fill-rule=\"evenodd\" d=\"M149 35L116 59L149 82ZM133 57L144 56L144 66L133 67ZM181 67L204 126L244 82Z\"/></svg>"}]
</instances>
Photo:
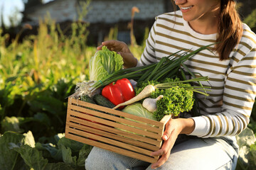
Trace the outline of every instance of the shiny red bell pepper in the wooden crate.
<instances>
[{"instance_id":1,"label":"shiny red bell pepper in the wooden crate","mask_svg":"<svg viewBox=\"0 0 256 170\"><path fill-rule=\"evenodd\" d=\"M105 96L117 106L119 103L124 103L124 101L129 101L129 99L133 98L135 92L129 79L124 78L105 86L102 89L102 96ZM124 106L120 108L124 108Z\"/></svg>"}]
</instances>

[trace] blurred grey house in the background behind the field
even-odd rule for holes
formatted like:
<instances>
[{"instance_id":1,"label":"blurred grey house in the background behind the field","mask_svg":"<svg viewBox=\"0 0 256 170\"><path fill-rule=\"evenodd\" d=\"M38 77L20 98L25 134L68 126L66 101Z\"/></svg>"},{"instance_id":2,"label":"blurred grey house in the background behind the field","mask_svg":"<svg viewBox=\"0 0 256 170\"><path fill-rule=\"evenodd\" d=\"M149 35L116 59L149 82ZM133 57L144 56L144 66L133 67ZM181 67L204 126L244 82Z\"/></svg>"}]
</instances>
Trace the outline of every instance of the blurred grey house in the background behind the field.
<instances>
[{"instance_id":1,"label":"blurred grey house in the background behind the field","mask_svg":"<svg viewBox=\"0 0 256 170\"><path fill-rule=\"evenodd\" d=\"M150 28L155 16L171 11L170 0L91 0L84 21L90 23L92 43L101 42L114 26L118 27L118 39L129 42L129 28L132 7L139 8L134 15L134 35L142 36L146 27ZM38 26L40 18L50 14L56 23L71 23L78 20L79 0L55 0L27 8L23 13L23 23ZM144 36L144 35L143 35ZM91 40L90 40L91 39Z\"/></svg>"}]
</instances>

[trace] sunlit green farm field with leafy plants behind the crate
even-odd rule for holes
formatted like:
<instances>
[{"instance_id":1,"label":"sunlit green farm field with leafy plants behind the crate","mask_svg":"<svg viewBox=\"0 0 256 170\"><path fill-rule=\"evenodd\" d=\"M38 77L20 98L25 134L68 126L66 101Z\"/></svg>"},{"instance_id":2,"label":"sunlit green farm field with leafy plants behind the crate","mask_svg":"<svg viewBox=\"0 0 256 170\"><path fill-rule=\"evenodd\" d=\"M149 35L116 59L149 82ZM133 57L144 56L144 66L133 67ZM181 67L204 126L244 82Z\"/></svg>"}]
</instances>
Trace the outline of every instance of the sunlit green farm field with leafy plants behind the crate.
<instances>
[{"instance_id":1,"label":"sunlit green farm field with leafy plants behind the crate","mask_svg":"<svg viewBox=\"0 0 256 170\"><path fill-rule=\"evenodd\" d=\"M68 37L57 28L42 22L38 35L8 46L8 35L0 37L0 169L85 169L92 147L65 138L65 118L67 97L88 81L96 47L85 45L85 25L73 23ZM131 46L138 59L143 49ZM238 169L256 169L255 135L256 106L239 137Z\"/></svg>"}]
</instances>

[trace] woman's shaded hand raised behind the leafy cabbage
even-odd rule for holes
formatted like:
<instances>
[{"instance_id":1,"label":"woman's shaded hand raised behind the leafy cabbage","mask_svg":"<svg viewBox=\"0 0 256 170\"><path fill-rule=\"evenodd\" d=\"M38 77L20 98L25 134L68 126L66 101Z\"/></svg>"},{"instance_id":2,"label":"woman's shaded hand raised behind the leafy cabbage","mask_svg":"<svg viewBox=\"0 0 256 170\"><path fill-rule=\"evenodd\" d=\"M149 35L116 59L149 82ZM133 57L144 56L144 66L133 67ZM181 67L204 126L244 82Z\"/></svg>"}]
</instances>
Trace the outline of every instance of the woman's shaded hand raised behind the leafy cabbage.
<instances>
[{"instance_id":1,"label":"woman's shaded hand raised behind the leafy cabbage","mask_svg":"<svg viewBox=\"0 0 256 170\"><path fill-rule=\"evenodd\" d=\"M137 59L132 55L126 43L118 40L107 40L102 42L102 45L97 47L97 50L101 50L104 45L107 46L109 50L115 51L123 57L124 68L137 66Z\"/></svg>"}]
</instances>

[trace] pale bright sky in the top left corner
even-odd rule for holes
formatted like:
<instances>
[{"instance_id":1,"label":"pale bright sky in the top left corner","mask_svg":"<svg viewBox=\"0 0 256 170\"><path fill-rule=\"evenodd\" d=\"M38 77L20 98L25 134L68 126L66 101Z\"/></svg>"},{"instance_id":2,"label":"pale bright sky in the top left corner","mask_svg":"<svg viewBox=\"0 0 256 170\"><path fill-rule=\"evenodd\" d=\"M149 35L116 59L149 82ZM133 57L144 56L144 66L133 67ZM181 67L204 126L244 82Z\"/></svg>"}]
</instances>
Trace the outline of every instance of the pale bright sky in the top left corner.
<instances>
[{"instance_id":1,"label":"pale bright sky in the top left corner","mask_svg":"<svg viewBox=\"0 0 256 170\"><path fill-rule=\"evenodd\" d=\"M43 3L53 0L43 0ZM21 21L22 14L20 11L24 10L24 4L22 0L0 0L0 13L4 15L4 24L10 26L9 18L15 18L16 21ZM1 18L0 18L1 24ZM17 24L17 23L16 23Z\"/></svg>"}]
</instances>

